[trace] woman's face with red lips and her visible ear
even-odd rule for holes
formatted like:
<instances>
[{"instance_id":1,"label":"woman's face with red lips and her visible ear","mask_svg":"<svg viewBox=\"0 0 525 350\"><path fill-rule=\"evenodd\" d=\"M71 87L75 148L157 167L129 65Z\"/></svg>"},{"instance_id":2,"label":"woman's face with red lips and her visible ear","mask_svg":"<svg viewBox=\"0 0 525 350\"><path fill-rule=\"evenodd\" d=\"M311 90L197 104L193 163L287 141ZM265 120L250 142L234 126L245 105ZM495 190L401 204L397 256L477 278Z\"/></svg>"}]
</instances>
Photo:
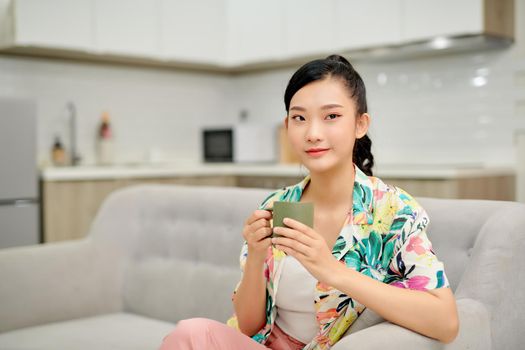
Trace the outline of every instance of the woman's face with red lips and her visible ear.
<instances>
[{"instance_id":1,"label":"woman's face with red lips and her visible ear","mask_svg":"<svg viewBox=\"0 0 525 350\"><path fill-rule=\"evenodd\" d=\"M357 116L348 89L333 78L298 90L285 120L292 148L310 172L352 164L355 140L366 134L369 122L367 113Z\"/></svg>"}]
</instances>

